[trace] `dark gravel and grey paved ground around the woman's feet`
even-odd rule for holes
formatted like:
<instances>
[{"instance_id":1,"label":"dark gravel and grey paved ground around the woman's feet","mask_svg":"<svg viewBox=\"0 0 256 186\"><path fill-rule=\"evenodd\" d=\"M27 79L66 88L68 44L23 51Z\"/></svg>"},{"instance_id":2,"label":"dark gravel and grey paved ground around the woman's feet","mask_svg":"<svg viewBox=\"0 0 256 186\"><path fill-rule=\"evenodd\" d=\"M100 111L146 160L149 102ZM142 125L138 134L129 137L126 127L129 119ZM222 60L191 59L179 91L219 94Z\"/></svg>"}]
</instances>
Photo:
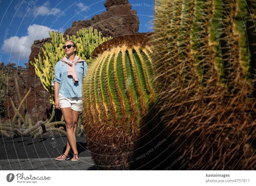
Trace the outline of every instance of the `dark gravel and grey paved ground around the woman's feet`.
<instances>
[{"instance_id":1,"label":"dark gravel and grey paved ground around the woman's feet","mask_svg":"<svg viewBox=\"0 0 256 186\"><path fill-rule=\"evenodd\" d=\"M53 138L54 137L54 138ZM1 170L96 170L84 137L77 137L79 161L57 161L67 143L66 136L43 135L36 139L0 136ZM72 156L72 154L70 154Z\"/></svg>"}]
</instances>

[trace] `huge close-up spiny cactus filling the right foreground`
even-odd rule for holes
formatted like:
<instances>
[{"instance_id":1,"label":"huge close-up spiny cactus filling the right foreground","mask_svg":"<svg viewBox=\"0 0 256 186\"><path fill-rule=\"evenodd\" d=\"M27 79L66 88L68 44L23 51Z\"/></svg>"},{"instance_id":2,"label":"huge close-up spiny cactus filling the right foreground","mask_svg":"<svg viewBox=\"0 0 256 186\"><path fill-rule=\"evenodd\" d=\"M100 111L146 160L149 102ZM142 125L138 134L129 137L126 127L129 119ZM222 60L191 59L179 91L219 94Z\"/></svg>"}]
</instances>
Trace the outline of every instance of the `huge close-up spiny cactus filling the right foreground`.
<instances>
[{"instance_id":1,"label":"huge close-up spiny cactus filling the right foreground","mask_svg":"<svg viewBox=\"0 0 256 186\"><path fill-rule=\"evenodd\" d=\"M180 169L254 169L255 2L155 4L156 107Z\"/></svg>"}]
</instances>

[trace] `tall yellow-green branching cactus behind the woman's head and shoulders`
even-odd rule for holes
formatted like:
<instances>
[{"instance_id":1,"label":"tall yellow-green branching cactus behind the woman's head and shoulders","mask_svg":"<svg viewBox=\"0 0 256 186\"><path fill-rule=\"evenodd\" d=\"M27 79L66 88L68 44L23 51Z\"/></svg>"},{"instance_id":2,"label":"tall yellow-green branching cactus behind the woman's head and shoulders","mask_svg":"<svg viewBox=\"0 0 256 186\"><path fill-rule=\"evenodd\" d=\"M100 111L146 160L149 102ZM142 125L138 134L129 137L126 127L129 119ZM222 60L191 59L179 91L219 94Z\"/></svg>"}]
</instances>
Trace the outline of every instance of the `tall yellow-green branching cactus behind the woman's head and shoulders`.
<instances>
[{"instance_id":1,"label":"tall yellow-green branching cactus behind the woman's head and shoulders","mask_svg":"<svg viewBox=\"0 0 256 186\"><path fill-rule=\"evenodd\" d=\"M35 58L35 62L30 61L31 65L35 66L36 75L40 78L44 89L50 93L50 103L54 105L54 99L52 97L52 93L54 92L54 88L52 87L52 81L54 79L54 67L55 64L65 56L65 52L62 49L62 46L65 44L65 40L63 38L62 33L59 32L51 32L49 31L49 35L52 38L51 43L44 43L43 51L43 60L41 58L40 53L38 54L38 59ZM77 45L77 56L82 59L85 59L87 64L92 60L90 57L92 51L100 44L109 39L109 38L101 38L101 33L90 27L89 29L81 29L77 31L78 38L75 35L67 36L67 40L73 40Z\"/></svg>"}]
</instances>

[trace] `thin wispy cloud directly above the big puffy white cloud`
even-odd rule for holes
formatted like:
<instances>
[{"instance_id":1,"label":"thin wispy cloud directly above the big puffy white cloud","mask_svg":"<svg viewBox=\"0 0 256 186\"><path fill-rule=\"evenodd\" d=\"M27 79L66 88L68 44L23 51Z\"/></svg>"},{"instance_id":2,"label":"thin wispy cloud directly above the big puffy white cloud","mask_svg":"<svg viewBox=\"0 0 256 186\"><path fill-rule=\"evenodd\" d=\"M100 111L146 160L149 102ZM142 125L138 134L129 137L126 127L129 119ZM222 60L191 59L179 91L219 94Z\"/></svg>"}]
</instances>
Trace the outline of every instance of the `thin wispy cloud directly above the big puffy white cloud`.
<instances>
[{"instance_id":1,"label":"thin wispy cloud directly above the big puffy white cloud","mask_svg":"<svg viewBox=\"0 0 256 186\"><path fill-rule=\"evenodd\" d=\"M50 3L47 2L43 6L34 6L31 10L34 16L47 16L47 15L57 15L60 13L59 8L50 8Z\"/></svg>"}]
</instances>

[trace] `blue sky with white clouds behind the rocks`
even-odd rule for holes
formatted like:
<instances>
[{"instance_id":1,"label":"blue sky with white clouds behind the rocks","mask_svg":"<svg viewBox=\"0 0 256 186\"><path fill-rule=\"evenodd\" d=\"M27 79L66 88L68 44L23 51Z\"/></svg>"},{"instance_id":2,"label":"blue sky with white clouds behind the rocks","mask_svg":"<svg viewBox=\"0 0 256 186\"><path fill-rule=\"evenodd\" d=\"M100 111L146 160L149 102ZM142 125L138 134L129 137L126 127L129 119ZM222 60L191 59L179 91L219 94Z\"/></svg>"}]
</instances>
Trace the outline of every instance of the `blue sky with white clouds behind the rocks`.
<instances>
[{"instance_id":1,"label":"blue sky with white clouds behind the rocks","mask_svg":"<svg viewBox=\"0 0 256 186\"><path fill-rule=\"evenodd\" d=\"M65 32L73 21L106 12L106 0L0 0L0 62L28 62L34 40L49 37L48 30ZM154 0L129 0L140 20L139 32L152 31ZM72 5L73 4L73 5ZM72 6L68 9L68 7Z\"/></svg>"}]
</instances>

